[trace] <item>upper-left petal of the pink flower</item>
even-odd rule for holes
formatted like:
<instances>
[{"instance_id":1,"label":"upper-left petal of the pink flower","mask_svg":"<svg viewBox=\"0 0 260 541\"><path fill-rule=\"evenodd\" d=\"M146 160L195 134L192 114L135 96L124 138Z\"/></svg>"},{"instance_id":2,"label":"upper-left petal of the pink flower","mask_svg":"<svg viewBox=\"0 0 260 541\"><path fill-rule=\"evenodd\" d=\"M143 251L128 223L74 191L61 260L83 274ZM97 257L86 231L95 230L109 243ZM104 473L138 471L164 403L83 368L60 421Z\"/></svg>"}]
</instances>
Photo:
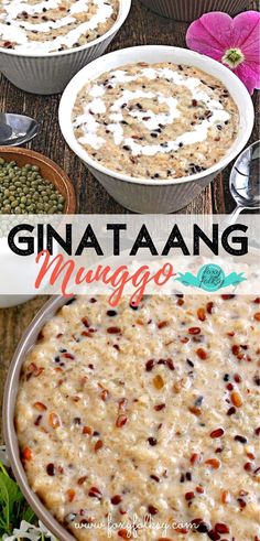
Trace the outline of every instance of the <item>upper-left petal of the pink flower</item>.
<instances>
[{"instance_id":1,"label":"upper-left petal of the pink flower","mask_svg":"<svg viewBox=\"0 0 260 541\"><path fill-rule=\"evenodd\" d=\"M189 48L220 59L230 48L232 37L232 19L227 13L214 11L194 21L186 33Z\"/></svg>"}]
</instances>

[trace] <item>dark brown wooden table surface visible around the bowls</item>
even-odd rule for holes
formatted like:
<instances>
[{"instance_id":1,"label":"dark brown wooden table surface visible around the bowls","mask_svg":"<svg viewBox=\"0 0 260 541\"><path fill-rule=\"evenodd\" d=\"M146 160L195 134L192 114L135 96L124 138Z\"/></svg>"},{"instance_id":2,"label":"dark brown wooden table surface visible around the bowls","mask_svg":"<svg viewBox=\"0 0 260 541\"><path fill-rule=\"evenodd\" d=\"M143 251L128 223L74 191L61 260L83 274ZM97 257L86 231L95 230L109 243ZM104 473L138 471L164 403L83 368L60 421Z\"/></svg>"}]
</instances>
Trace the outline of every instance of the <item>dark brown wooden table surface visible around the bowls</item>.
<instances>
[{"instance_id":1,"label":"dark brown wooden table surface visible around the bowls","mask_svg":"<svg viewBox=\"0 0 260 541\"><path fill-rule=\"evenodd\" d=\"M252 2L252 8L257 1ZM109 51L132 45L164 44L185 46L187 24L170 21L147 10L139 0L132 1L130 17L116 36ZM259 112L259 100L254 96L254 106ZM44 153L57 162L72 178L78 202L78 210L85 214L123 214L127 210L116 203L102 186L87 172L79 160L65 144L57 122L59 96L34 96L25 94L0 77L0 111L20 112L37 119L40 136L31 148ZM259 115L258 115L259 118ZM259 126L256 126L251 140L258 139ZM230 167L218 175L203 194L182 210L182 214L224 214L230 213L234 202L229 195L228 178ZM14 348L46 297L36 297L24 305L0 310L0 405L4 378ZM1 425L0 425L1 431ZM1 432L0 432L1 433Z\"/></svg>"}]
</instances>

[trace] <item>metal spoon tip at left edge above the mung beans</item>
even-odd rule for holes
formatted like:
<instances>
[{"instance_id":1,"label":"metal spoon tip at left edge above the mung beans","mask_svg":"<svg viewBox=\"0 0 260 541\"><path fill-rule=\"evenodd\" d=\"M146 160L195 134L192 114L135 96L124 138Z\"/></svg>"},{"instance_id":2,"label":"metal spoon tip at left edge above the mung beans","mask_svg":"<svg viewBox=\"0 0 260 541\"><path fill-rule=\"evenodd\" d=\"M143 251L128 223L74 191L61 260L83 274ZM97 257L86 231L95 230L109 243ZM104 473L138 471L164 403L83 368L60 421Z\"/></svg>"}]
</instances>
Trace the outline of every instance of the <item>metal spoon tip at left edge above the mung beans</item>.
<instances>
[{"instance_id":1,"label":"metal spoon tip at left edge above the mung beans","mask_svg":"<svg viewBox=\"0 0 260 541\"><path fill-rule=\"evenodd\" d=\"M39 123L24 115L0 112L0 145L19 147L31 141L39 131Z\"/></svg>"}]
</instances>

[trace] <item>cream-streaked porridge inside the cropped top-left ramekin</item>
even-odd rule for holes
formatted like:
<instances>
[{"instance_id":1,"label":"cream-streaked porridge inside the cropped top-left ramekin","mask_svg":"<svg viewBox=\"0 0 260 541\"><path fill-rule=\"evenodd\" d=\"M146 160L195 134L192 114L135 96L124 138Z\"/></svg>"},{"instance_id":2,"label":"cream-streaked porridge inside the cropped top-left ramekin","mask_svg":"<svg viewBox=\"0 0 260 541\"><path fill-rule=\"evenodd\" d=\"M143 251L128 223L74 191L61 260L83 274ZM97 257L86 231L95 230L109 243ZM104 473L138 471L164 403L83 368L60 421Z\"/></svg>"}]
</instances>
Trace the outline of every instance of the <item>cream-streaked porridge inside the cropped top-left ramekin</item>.
<instances>
[{"instance_id":1,"label":"cream-streaked porridge inside the cropped top-left ramekin","mask_svg":"<svg viewBox=\"0 0 260 541\"><path fill-rule=\"evenodd\" d=\"M119 0L0 0L0 46L51 53L108 32Z\"/></svg>"}]
</instances>

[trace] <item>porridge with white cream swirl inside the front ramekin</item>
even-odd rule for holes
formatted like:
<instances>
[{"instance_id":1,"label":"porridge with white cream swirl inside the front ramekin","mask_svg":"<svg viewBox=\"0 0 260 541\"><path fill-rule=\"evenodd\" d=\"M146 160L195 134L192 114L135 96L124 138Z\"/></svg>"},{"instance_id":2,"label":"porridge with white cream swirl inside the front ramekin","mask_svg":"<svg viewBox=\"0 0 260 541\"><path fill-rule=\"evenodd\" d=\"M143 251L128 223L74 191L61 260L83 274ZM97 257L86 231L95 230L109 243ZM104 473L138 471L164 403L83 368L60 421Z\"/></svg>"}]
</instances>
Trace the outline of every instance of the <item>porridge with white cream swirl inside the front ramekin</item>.
<instances>
[{"instance_id":1,"label":"porridge with white cream swirl inside the front ramekin","mask_svg":"<svg viewBox=\"0 0 260 541\"><path fill-rule=\"evenodd\" d=\"M239 115L226 87L201 69L140 63L88 83L72 121L80 145L110 170L176 178L202 172L226 154Z\"/></svg>"}]
</instances>

